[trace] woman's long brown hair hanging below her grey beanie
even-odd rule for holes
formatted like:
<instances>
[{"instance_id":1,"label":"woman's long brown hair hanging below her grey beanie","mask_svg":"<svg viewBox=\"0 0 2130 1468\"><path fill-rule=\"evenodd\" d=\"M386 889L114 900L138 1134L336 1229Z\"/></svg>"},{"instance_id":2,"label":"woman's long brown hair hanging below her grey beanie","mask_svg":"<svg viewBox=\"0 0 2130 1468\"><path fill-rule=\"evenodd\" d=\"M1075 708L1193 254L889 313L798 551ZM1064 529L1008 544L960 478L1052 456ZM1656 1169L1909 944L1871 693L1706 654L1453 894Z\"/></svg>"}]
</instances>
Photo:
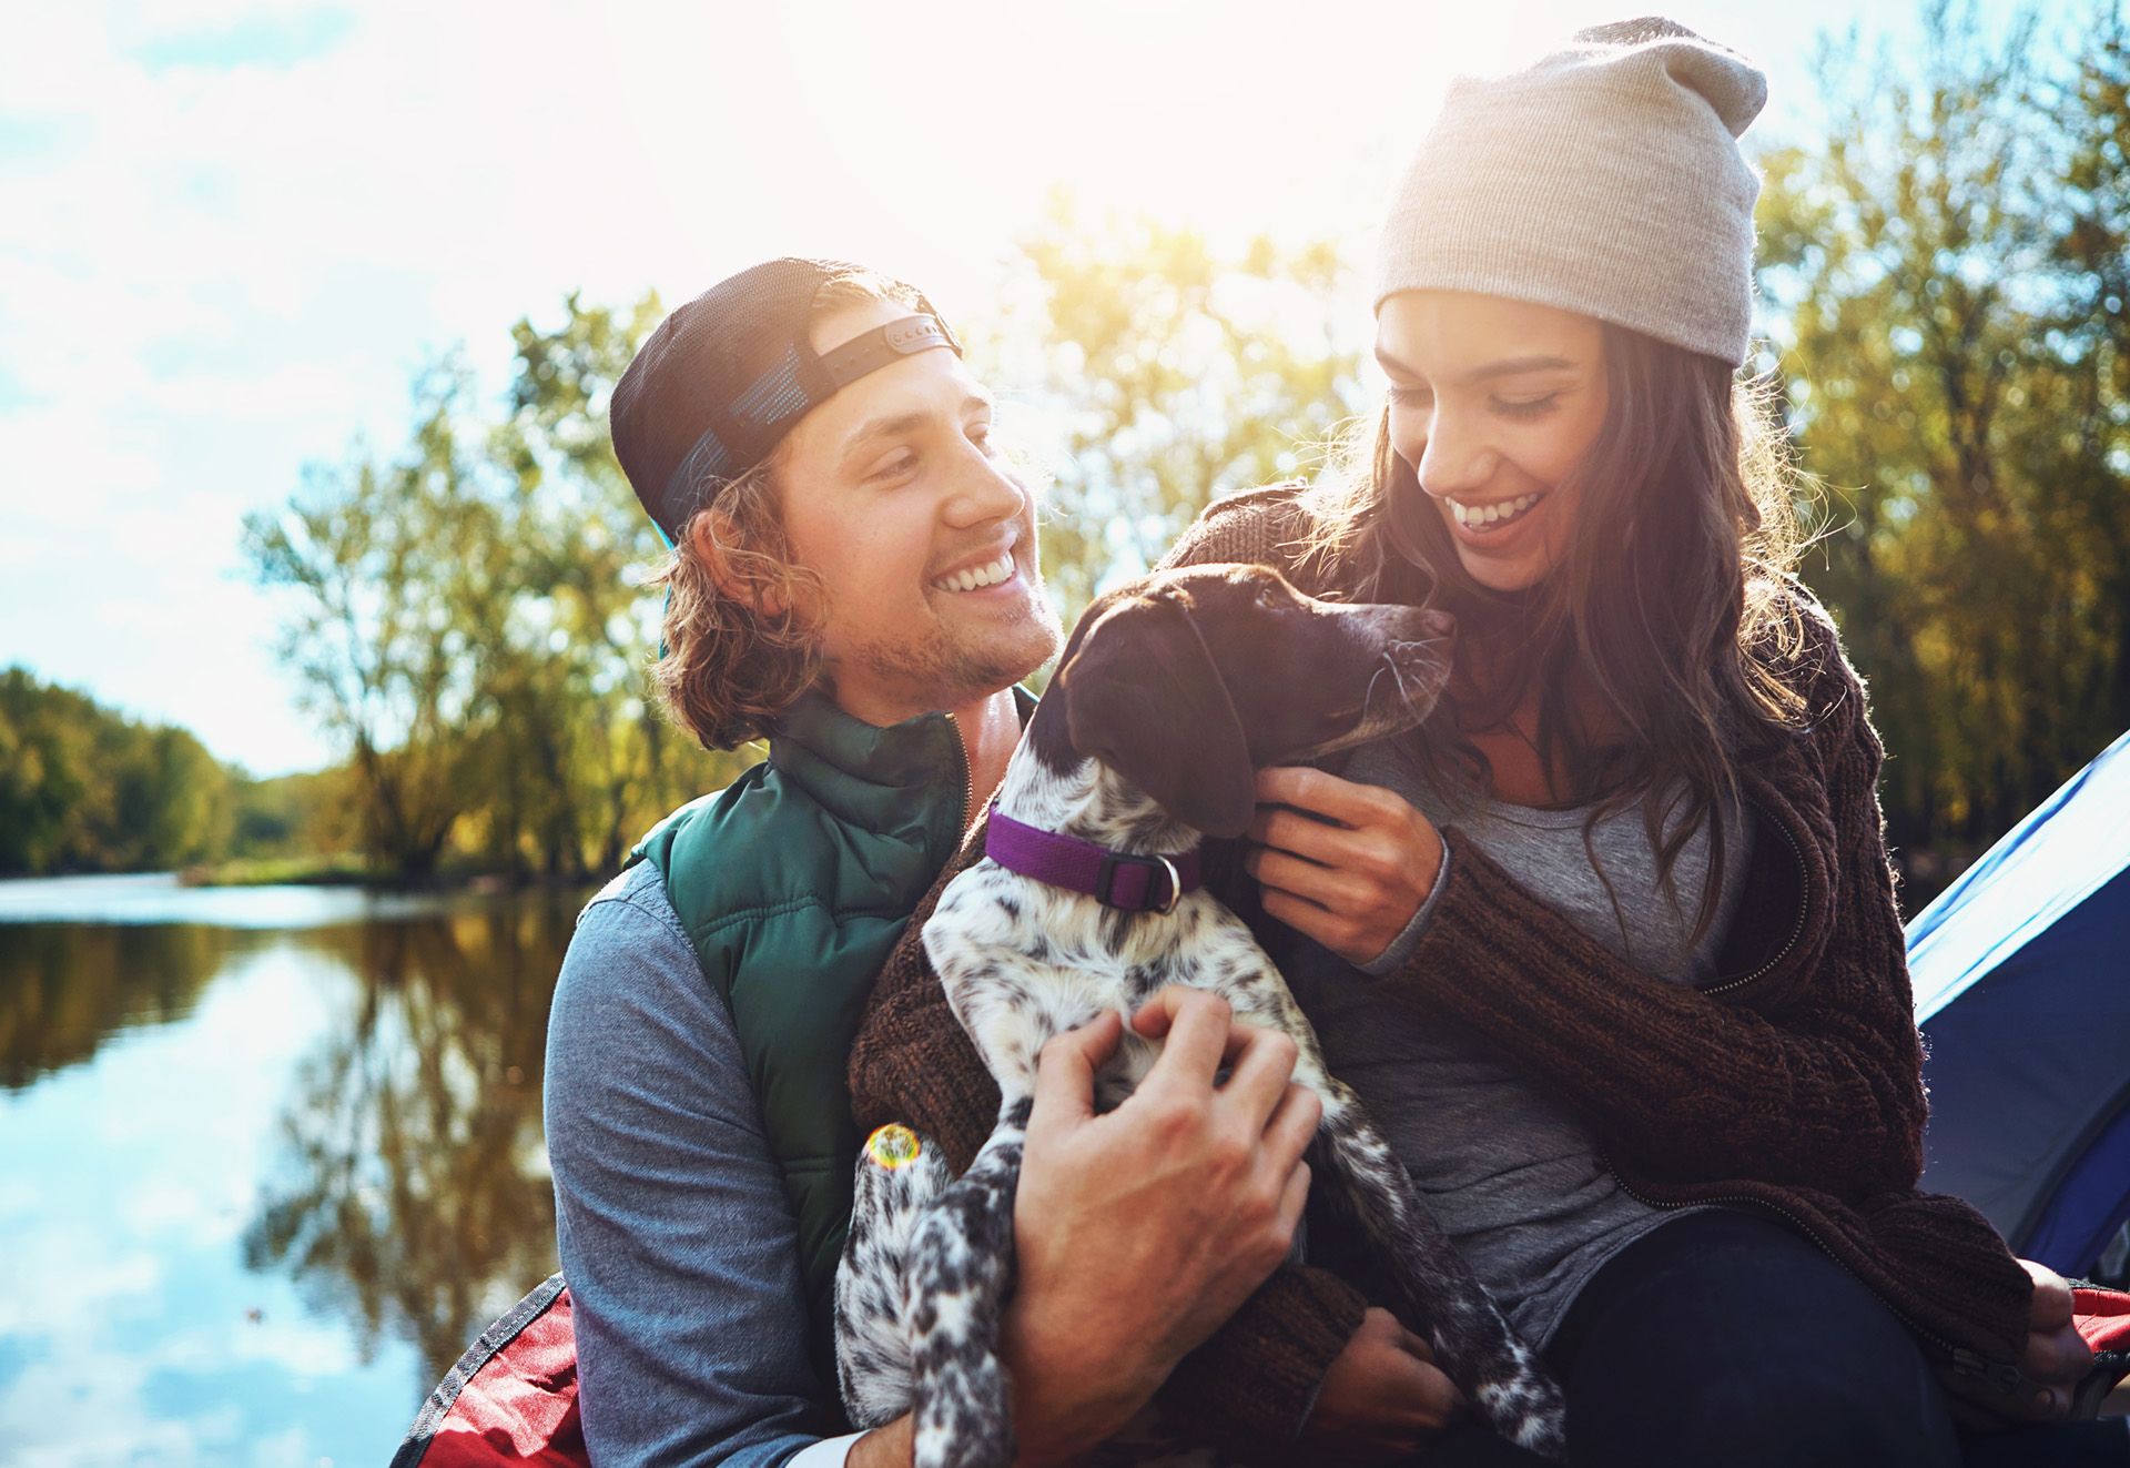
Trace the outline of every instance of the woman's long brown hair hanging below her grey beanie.
<instances>
[{"instance_id":1,"label":"woman's long brown hair hanging below her grey beanie","mask_svg":"<svg viewBox=\"0 0 2130 1468\"><path fill-rule=\"evenodd\" d=\"M1538 761L1566 771L1559 808L1589 808L1585 842L1598 820L1640 801L1670 893L1678 852L1710 822L1691 946L1723 888L1723 810L1738 799L1738 769L1802 718L1798 695L1768 667L1802 646L1785 594L1798 477L1753 388L1717 358L1606 326L1604 362L1608 409L1576 471L1576 526L1538 586L1495 592L1465 573L1442 513L1391 445L1389 407L1346 473L1312 490L1306 556L1361 599L1457 616L1463 675L1416 741L1423 773L1453 808L1491 780L1463 731L1508 727L1536 688ZM1593 705L1604 737L1578 714Z\"/></svg>"}]
</instances>

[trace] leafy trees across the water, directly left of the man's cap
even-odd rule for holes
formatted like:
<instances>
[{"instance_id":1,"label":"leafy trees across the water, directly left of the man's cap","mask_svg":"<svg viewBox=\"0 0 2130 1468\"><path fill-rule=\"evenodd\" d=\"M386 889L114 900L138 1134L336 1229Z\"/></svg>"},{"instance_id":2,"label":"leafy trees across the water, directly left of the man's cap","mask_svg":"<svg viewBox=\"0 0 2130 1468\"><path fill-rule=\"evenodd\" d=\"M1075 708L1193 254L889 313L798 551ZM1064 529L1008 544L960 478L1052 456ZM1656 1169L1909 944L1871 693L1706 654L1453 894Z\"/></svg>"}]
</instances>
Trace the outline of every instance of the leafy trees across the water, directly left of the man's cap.
<instances>
[{"instance_id":1,"label":"leafy trees across the water, directly left of the man's cap","mask_svg":"<svg viewBox=\"0 0 2130 1468\"><path fill-rule=\"evenodd\" d=\"M658 320L564 303L513 328L498 415L443 362L417 381L405 454L358 450L245 552L288 592L281 658L349 750L362 846L403 878L449 859L518 876L613 869L743 759L677 737L643 697L660 554L613 458L607 398Z\"/></svg>"}]
</instances>

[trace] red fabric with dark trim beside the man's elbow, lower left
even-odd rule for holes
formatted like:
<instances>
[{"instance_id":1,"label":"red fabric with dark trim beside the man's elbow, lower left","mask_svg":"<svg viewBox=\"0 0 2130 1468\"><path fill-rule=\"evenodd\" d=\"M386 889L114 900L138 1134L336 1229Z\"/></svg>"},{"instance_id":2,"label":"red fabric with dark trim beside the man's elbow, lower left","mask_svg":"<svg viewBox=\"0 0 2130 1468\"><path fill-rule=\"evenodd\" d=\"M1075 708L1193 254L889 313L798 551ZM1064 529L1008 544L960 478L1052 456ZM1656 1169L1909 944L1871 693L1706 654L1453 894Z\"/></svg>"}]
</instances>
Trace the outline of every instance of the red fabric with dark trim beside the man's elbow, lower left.
<instances>
[{"instance_id":1,"label":"red fabric with dark trim beside the man's elbow, lower left","mask_svg":"<svg viewBox=\"0 0 2130 1468\"><path fill-rule=\"evenodd\" d=\"M577 1336L560 1274L466 1347L413 1419L392 1468L590 1468L577 1419Z\"/></svg>"}]
</instances>

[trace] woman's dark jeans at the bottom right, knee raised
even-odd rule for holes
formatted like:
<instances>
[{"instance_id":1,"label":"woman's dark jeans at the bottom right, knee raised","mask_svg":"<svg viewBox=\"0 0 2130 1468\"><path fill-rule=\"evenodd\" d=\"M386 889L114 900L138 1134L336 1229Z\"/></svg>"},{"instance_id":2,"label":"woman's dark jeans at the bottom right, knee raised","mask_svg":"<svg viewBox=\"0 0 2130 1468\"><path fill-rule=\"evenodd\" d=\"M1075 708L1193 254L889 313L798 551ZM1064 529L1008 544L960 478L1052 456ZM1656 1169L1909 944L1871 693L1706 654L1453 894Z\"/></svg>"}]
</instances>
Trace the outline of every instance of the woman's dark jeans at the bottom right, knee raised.
<instances>
[{"instance_id":1,"label":"woman's dark jeans at the bottom right, knee raised","mask_svg":"<svg viewBox=\"0 0 2130 1468\"><path fill-rule=\"evenodd\" d=\"M1879 1298L1789 1229L1695 1212L1644 1234L1576 1295L1546 1359L1574 1468L2130 1466L2121 1421L1966 1440ZM1476 1423L1423 1464L1536 1464Z\"/></svg>"}]
</instances>

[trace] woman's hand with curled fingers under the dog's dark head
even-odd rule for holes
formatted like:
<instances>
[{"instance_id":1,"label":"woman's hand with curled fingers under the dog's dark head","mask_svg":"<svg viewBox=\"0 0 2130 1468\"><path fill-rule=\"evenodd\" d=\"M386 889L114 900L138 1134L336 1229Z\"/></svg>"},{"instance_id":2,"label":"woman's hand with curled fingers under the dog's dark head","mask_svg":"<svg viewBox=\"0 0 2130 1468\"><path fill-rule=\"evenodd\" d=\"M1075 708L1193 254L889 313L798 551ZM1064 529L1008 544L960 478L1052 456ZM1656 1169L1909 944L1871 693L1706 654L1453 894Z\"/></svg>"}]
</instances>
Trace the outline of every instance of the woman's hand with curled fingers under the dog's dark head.
<instances>
[{"instance_id":1,"label":"woman's hand with curled fingers under the dog's dark head","mask_svg":"<svg viewBox=\"0 0 2130 1468\"><path fill-rule=\"evenodd\" d=\"M1442 871L1442 837L1391 790L1321 769L1257 771L1244 869L1265 912L1346 963L1367 963L1406 931Z\"/></svg>"}]
</instances>

